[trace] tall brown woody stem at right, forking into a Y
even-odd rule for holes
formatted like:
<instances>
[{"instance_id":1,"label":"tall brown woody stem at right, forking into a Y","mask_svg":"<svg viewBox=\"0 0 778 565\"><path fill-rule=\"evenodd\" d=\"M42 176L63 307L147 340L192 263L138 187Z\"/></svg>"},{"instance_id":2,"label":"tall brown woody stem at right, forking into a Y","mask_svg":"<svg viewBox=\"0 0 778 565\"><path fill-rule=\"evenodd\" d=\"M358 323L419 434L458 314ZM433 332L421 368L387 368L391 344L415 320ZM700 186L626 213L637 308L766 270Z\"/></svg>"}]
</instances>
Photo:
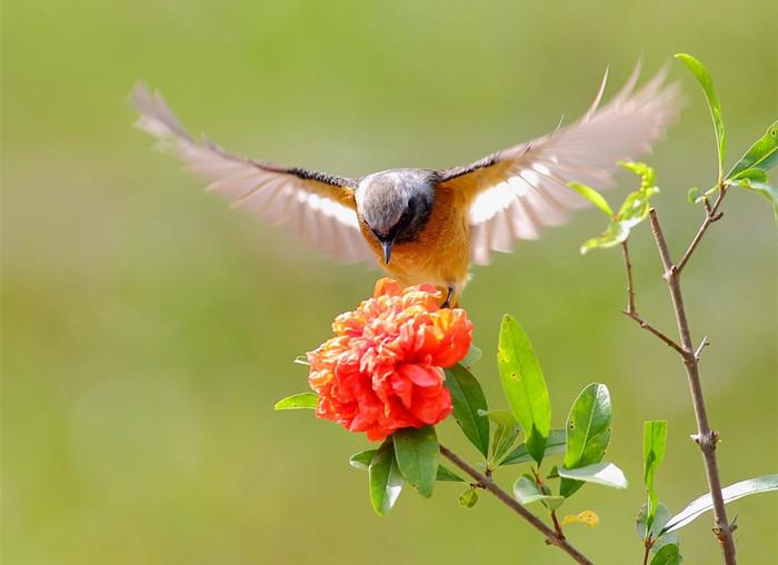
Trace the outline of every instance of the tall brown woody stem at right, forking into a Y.
<instances>
[{"instance_id":1,"label":"tall brown woody stem at right, forking into a Y","mask_svg":"<svg viewBox=\"0 0 778 565\"><path fill-rule=\"evenodd\" d=\"M716 524L714 527L714 533L721 544L725 563L727 565L735 565L736 558L732 527L727 521L727 512L724 504L724 497L721 496L721 479L719 478L719 468L716 460L716 444L718 442L718 434L710 429L710 424L708 423L708 413L705 406L705 396L702 394L702 384L699 375L699 351L701 350L702 346L695 349L694 343L691 341L691 331L689 329L689 320L686 315L686 307L684 306L684 296L681 294L680 286L681 268L686 265L686 262L688 262L689 258L695 252L695 249L708 229L708 226L720 218L720 215L717 215L717 210L725 196L726 187L722 186L716 204L710 210L706 210L706 219L689 245L686 254L684 254L684 258L678 266L672 264L670 251L667 247L667 240L665 239L661 226L657 219L657 212L654 209L649 210L649 221L651 225L651 234L654 235L654 240L657 244L659 257L661 258L662 267L665 268L664 279L670 290L672 309L676 315L676 323L680 335L680 345L682 348L680 355L684 360L684 367L686 368L689 390L691 391L691 403L695 409L695 416L697 418L697 435L694 436L694 439L702 453L705 472L708 479L708 488L714 502L714 519ZM705 341L706 340L702 343L705 344Z\"/></svg>"}]
</instances>

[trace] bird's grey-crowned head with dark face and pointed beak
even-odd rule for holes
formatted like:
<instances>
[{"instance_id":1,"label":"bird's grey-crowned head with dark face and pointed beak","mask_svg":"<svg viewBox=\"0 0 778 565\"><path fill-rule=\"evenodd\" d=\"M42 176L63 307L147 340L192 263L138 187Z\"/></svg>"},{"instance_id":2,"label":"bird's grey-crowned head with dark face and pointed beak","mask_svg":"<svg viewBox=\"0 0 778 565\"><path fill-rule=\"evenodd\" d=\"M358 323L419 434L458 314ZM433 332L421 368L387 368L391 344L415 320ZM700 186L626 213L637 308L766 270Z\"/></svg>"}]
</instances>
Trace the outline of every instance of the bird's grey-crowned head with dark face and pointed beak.
<instances>
[{"instance_id":1,"label":"bird's grey-crowned head with dark face and pointed beak","mask_svg":"<svg viewBox=\"0 0 778 565\"><path fill-rule=\"evenodd\" d=\"M357 188L357 211L383 247L389 264L395 244L412 241L427 225L437 177L423 169L392 169L365 177Z\"/></svg>"}]
</instances>

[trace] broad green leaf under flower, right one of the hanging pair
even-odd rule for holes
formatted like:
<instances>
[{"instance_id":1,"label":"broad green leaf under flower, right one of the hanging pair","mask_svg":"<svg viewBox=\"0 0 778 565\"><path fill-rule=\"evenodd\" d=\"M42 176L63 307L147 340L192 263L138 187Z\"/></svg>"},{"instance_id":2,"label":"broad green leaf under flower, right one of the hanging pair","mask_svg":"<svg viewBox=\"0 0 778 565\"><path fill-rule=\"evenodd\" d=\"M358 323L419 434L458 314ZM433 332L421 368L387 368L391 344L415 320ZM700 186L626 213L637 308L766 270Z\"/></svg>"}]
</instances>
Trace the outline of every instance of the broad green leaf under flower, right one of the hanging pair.
<instances>
[{"instance_id":1,"label":"broad green leaf under flower, right one of the hanging pair","mask_svg":"<svg viewBox=\"0 0 778 565\"><path fill-rule=\"evenodd\" d=\"M438 476L438 438L432 426L403 428L392 434L400 473L421 496L432 496Z\"/></svg>"}]
</instances>

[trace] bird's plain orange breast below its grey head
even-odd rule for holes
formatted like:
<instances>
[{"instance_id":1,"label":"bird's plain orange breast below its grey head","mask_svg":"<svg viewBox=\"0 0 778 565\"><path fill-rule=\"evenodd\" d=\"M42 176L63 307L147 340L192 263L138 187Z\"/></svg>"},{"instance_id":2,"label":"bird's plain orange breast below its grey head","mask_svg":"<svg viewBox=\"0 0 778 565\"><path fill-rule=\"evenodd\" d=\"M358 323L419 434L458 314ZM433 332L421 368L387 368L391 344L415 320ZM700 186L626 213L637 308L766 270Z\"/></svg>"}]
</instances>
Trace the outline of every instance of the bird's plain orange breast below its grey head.
<instances>
[{"instance_id":1,"label":"bird's plain orange breast below its grey head","mask_svg":"<svg viewBox=\"0 0 778 565\"><path fill-rule=\"evenodd\" d=\"M461 290L468 278L470 244L467 209L460 195L452 190L436 192L432 211L417 240L396 244L389 266L383 265L381 246L360 222L362 236L376 254L378 264L401 285L432 284Z\"/></svg>"}]
</instances>

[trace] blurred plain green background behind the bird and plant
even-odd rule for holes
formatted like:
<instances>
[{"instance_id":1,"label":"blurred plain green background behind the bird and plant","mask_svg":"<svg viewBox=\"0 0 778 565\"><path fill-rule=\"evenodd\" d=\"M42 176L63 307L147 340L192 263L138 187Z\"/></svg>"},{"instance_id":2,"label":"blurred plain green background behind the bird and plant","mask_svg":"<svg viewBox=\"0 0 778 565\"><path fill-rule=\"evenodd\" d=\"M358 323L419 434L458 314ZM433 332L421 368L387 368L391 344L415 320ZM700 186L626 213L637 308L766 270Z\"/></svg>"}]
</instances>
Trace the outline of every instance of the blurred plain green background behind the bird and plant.
<instances>
[{"instance_id":1,"label":"blurred plain green background behind the bird and plant","mask_svg":"<svg viewBox=\"0 0 778 565\"><path fill-rule=\"evenodd\" d=\"M232 150L349 176L445 167L552 129L581 112L610 65L612 93L642 54L710 68L730 159L778 115L772 0L748 2L3 2L2 554L10 564L568 563L537 533L460 487L405 493L372 514L366 446L310 413L273 414L306 388L291 360L377 278L287 242L201 194L127 105L142 78L186 125ZM678 254L700 220L690 186L715 175L701 91L657 147L657 199ZM622 187L635 180L622 176ZM617 195L612 196L616 199ZM725 483L776 472L776 230L737 192L685 275ZM638 563L641 425L667 418L657 480L680 509L705 490L678 359L619 314L618 251L578 254L597 211L475 269L465 306L495 406L500 316L532 337L560 425L578 390L608 384L609 458L626 492L585 488L566 511L597 563ZM638 307L672 329L648 230L634 238ZM441 436L471 460L449 422ZM520 469L498 475L506 485ZM742 563L775 556L778 505L730 505ZM687 563L716 563L710 522L682 532Z\"/></svg>"}]
</instances>

